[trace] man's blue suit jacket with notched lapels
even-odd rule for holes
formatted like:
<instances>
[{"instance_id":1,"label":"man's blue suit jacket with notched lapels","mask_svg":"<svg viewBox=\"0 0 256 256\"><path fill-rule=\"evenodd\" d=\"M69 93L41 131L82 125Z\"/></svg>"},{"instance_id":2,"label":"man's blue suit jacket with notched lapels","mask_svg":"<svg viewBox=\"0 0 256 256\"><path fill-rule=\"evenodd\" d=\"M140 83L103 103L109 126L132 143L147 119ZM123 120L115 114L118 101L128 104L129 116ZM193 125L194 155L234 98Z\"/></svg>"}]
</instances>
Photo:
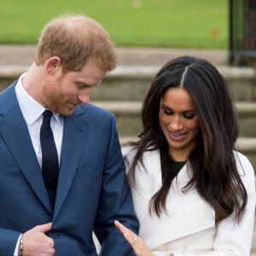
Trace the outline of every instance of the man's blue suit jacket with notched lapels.
<instances>
[{"instance_id":1,"label":"man's blue suit jacket with notched lapels","mask_svg":"<svg viewBox=\"0 0 256 256\"><path fill-rule=\"evenodd\" d=\"M134 255L113 225L138 229L113 114L87 104L64 118L53 212L15 84L0 94L0 255L13 256L20 233L48 222L56 256L96 255L93 230L103 256Z\"/></svg>"}]
</instances>

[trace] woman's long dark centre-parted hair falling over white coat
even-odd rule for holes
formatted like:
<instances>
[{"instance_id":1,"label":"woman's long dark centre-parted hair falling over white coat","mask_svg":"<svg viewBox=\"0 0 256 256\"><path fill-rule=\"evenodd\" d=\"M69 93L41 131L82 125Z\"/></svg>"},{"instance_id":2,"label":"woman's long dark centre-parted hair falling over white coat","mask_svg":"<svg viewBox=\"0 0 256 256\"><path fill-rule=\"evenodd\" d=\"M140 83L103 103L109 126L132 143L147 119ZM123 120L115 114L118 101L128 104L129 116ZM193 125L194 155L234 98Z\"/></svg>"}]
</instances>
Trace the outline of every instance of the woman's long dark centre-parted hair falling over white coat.
<instances>
[{"instance_id":1,"label":"woman's long dark centre-parted hair falling over white coat","mask_svg":"<svg viewBox=\"0 0 256 256\"><path fill-rule=\"evenodd\" d=\"M232 212L241 219L247 205L247 192L237 171L234 148L238 136L238 121L230 89L217 68L206 60L183 56L166 63L155 75L143 101L143 131L140 140L130 143L137 153L131 162L128 179L136 183L135 167L143 165L143 153L160 150L162 187L152 197L149 210L160 216L166 211L166 196L172 180L177 177L168 145L160 129L160 101L166 90L180 87L188 90L195 103L200 123L197 146L189 154L192 171L183 191L195 187L214 209L216 222Z\"/></svg>"}]
</instances>

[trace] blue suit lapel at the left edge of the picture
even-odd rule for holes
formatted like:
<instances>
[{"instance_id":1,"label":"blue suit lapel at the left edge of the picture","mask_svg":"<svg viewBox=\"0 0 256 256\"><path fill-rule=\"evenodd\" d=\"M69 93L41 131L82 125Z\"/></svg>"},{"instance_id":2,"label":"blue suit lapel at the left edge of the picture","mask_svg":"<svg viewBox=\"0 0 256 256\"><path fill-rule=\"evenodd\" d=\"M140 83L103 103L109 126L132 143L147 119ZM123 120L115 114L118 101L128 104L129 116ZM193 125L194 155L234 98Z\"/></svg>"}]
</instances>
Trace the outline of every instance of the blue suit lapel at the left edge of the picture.
<instances>
[{"instance_id":1,"label":"blue suit lapel at the left edge of the picture","mask_svg":"<svg viewBox=\"0 0 256 256\"><path fill-rule=\"evenodd\" d=\"M12 92L13 96L15 96L15 90ZM13 99L15 99L15 97ZM20 166L20 171L23 173L24 177L26 177L27 182L30 184L39 200L42 201L49 212L52 212L26 122L22 117L16 99L13 102L15 102L14 108L10 108L7 113L0 113L0 115L2 115L0 119L0 135L3 137L4 143L6 143L16 163ZM0 108L1 107L2 106L0 106ZM3 110L3 108L1 108L1 110Z\"/></svg>"}]
</instances>

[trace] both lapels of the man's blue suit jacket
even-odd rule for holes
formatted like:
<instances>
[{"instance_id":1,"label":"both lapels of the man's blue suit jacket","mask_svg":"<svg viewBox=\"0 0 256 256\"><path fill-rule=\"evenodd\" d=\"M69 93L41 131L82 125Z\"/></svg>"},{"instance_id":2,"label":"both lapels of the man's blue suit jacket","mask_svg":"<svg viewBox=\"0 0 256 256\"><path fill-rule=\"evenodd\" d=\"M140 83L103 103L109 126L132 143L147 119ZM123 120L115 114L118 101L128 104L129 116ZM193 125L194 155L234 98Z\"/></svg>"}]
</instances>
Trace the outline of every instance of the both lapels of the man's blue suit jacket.
<instances>
[{"instance_id":1,"label":"both lapels of the man's blue suit jacket","mask_svg":"<svg viewBox=\"0 0 256 256\"><path fill-rule=\"evenodd\" d=\"M0 94L0 136L3 137L4 143L20 166L20 171L26 177L39 200L52 213L38 159L15 96L15 84L9 85L9 88ZM82 118L84 114L84 111L78 107L75 108L71 116L64 119L61 166L54 218L60 212L67 197L77 171L80 154L84 148L84 137L88 129L88 122Z\"/></svg>"}]
</instances>

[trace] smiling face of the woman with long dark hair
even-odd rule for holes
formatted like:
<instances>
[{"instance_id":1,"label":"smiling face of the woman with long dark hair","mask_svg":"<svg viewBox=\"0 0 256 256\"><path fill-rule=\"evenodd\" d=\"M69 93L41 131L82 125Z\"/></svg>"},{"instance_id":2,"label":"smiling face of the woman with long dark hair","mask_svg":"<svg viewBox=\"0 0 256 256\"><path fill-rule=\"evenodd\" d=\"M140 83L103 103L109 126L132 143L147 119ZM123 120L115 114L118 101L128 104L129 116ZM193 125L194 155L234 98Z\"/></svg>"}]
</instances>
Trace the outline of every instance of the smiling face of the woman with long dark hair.
<instances>
[{"instance_id":1,"label":"smiling face of the woman with long dark hair","mask_svg":"<svg viewBox=\"0 0 256 256\"><path fill-rule=\"evenodd\" d=\"M199 119L188 90L170 88L162 97L160 128L169 145L169 154L176 161L188 160L197 143Z\"/></svg>"}]
</instances>

